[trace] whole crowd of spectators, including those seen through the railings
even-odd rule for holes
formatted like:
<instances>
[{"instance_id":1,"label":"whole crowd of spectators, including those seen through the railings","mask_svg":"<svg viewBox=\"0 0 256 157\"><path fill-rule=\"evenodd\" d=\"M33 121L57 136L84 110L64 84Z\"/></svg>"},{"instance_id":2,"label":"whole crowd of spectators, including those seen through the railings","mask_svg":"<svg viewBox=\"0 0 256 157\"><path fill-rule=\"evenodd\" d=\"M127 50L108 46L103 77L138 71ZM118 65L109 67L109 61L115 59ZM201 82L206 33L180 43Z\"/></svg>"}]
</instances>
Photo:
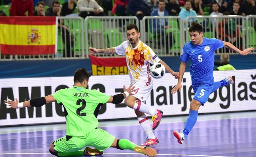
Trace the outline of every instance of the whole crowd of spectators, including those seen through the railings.
<instances>
[{"instance_id":1,"label":"whole crowd of spectators, including those seen through the railings","mask_svg":"<svg viewBox=\"0 0 256 157\"><path fill-rule=\"evenodd\" d=\"M256 1L256 0L255 0ZM142 20L144 16L180 16L185 20L187 16L196 15L256 15L256 5L254 0L2 0L4 4L10 4L10 16L80 16L86 18L87 16L137 16ZM208 12L205 12L208 10ZM0 12L0 15L4 13ZM195 19L186 21L190 22ZM205 22L205 21L203 21ZM227 21L226 21L227 22ZM256 22L256 20L255 20ZM121 23L121 20L119 20ZM228 23L232 23L230 21ZM210 19L210 24L216 27L225 27L227 23L217 21L216 18ZM237 20L236 24L242 24L241 20ZM233 25L232 25L233 26ZM256 24L254 24L256 26ZM62 27L63 40L75 40L69 35L69 27L59 22ZM148 27L148 26L146 26ZM167 34L168 38L173 36L165 33L169 28L169 24L165 19L158 19L158 22L153 21L150 26L152 33L156 31L163 35ZM231 27L228 26L230 29ZM146 28L147 31L148 28ZM256 28L255 28L256 29ZM241 44L240 33L238 28L232 28L232 31L221 29L216 32L221 36L221 40L230 41ZM215 30L216 31L216 30ZM225 33L229 32L229 34ZM65 36L65 35L67 36ZM232 35L231 35L232 34ZM72 35L72 34L71 34ZM232 38L231 38L232 36ZM239 39L239 42L238 42ZM174 43L174 39L165 38L165 41ZM66 41L66 50L71 51L73 41ZM169 45L168 43L166 43ZM72 54L73 55L73 52Z\"/></svg>"}]
</instances>

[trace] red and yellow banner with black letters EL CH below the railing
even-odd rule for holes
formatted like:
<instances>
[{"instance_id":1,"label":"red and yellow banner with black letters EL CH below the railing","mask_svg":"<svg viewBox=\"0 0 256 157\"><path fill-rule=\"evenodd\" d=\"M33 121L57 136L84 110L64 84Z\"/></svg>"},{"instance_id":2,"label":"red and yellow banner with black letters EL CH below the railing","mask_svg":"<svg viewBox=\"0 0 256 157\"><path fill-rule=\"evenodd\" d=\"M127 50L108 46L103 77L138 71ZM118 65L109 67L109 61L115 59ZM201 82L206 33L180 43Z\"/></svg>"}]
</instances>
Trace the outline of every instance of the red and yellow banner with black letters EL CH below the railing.
<instances>
[{"instance_id":1,"label":"red and yellow banner with black letters EL CH below the railing","mask_svg":"<svg viewBox=\"0 0 256 157\"><path fill-rule=\"evenodd\" d=\"M92 75L123 75L128 74L125 57L102 58L89 55L91 58Z\"/></svg>"}]
</instances>

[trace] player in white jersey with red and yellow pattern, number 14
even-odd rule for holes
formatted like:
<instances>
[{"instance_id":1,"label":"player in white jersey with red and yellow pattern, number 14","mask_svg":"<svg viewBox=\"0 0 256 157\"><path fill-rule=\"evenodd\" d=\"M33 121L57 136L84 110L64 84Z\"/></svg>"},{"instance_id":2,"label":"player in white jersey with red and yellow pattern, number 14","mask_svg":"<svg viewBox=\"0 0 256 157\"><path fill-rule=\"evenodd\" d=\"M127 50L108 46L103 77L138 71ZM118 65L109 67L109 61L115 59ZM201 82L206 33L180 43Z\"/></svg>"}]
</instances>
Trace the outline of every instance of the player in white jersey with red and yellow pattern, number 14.
<instances>
[{"instance_id":1,"label":"player in white jersey with red and yellow pattern, number 14","mask_svg":"<svg viewBox=\"0 0 256 157\"><path fill-rule=\"evenodd\" d=\"M160 124L163 112L155 110L146 105L145 101L149 97L153 88L153 80L150 75L150 64L160 62L165 66L167 72L171 73L175 78L179 75L177 72L171 70L171 68L165 64L160 58L155 55L154 51L139 40L139 29L135 24L129 24L127 26L127 38L117 47L109 49L96 49L89 48L91 53L107 53L126 55L126 63L129 71L130 81L136 88L134 95L129 95L125 99L125 104L135 110L139 124L147 135L146 142L141 146L154 146L159 144L157 137L155 137L153 130L155 130ZM153 126L144 114L147 113L152 116Z\"/></svg>"}]
</instances>

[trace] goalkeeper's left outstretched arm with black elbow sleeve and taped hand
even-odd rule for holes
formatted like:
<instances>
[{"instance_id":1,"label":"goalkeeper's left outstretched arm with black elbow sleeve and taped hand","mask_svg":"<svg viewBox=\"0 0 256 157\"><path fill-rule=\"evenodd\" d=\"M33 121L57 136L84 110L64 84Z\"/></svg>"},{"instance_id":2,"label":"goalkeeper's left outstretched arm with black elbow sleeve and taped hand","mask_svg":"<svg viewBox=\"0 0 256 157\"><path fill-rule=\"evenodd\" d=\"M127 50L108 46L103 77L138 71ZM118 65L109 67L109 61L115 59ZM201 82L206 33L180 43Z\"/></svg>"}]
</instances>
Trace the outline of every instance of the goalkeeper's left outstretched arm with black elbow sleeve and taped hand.
<instances>
[{"instance_id":1,"label":"goalkeeper's left outstretched arm with black elbow sleeve and taped hand","mask_svg":"<svg viewBox=\"0 0 256 157\"><path fill-rule=\"evenodd\" d=\"M5 100L6 108L22 108L22 107L40 107L44 104L55 102L53 95L48 95L46 97L39 97L25 102L19 102L16 98L15 101L7 99Z\"/></svg>"}]
</instances>

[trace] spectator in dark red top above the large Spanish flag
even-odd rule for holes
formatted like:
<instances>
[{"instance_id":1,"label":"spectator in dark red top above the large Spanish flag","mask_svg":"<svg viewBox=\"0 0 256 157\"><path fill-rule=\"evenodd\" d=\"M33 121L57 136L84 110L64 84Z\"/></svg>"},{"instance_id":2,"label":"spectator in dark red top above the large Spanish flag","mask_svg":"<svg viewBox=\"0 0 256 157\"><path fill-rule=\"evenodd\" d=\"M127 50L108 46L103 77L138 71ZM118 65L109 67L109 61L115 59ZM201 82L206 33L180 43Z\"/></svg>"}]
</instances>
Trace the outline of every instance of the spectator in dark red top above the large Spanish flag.
<instances>
[{"instance_id":1,"label":"spectator in dark red top above the large Spanish flag","mask_svg":"<svg viewBox=\"0 0 256 157\"><path fill-rule=\"evenodd\" d=\"M12 0L10 16L33 16L33 0Z\"/></svg>"}]
</instances>

